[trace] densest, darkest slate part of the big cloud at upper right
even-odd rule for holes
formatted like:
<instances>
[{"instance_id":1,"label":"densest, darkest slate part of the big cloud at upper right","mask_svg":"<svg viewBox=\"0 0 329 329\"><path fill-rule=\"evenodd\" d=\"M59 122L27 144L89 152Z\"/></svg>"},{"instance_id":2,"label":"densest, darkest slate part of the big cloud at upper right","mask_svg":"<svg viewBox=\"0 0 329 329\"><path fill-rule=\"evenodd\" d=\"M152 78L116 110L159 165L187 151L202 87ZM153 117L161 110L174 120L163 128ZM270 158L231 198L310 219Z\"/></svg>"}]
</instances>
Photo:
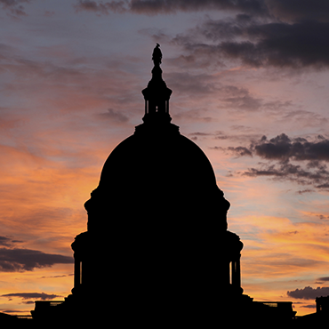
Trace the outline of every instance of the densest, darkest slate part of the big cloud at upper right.
<instances>
[{"instance_id":1,"label":"densest, darkest slate part of the big cloud at upper right","mask_svg":"<svg viewBox=\"0 0 329 329\"><path fill-rule=\"evenodd\" d=\"M247 40L221 43L221 53L253 67L301 68L329 65L329 23L305 20L293 24L252 24Z\"/></svg>"}]
</instances>

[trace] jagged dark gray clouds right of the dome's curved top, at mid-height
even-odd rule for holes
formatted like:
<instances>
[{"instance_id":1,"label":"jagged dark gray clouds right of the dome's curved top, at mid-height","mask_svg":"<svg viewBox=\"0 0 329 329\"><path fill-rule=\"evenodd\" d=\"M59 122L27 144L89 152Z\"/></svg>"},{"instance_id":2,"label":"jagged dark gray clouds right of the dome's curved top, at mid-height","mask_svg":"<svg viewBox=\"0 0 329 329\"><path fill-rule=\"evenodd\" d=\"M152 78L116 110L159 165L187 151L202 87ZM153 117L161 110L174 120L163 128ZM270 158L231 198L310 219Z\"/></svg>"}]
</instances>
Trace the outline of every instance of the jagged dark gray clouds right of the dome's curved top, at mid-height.
<instances>
[{"instance_id":1,"label":"jagged dark gray clouds right of the dome's curved top, at mid-height","mask_svg":"<svg viewBox=\"0 0 329 329\"><path fill-rule=\"evenodd\" d=\"M317 189L329 189L329 140L318 135L315 140L290 138L285 133L270 140L262 136L251 140L250 145L218 148L234 156L259 156L268 162L259 163L241 173L249 177L269 177L276 180L293 181L301 185L312 185ZM299 193L312 192L304 189Z\"/></svg>"}]
</instances>

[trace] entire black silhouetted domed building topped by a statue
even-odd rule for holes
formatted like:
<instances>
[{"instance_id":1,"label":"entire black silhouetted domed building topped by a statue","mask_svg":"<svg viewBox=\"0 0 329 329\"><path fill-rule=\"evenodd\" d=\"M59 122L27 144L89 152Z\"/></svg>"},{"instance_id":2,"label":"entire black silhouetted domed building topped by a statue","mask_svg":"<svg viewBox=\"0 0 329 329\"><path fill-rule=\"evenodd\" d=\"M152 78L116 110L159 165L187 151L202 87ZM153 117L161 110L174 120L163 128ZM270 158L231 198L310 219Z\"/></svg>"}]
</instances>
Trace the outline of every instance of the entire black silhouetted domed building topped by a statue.
<instances>
[{"instance_id":1,"label":"entire black silhouetted domed building topped by a statue","mask_svg":"<svg viewBox=\"0 0 329 329\"><path fill-rule=\"evenodd\" d=\"M292 325L292 302L243 293L243 243L228 230L229 201L205 153L171 123L161 51L143 124L108 156L84 204L88 229L72 244L75 277L64 302L36 301L33 321L61 327Z\"/></svg>"}]
</instances>

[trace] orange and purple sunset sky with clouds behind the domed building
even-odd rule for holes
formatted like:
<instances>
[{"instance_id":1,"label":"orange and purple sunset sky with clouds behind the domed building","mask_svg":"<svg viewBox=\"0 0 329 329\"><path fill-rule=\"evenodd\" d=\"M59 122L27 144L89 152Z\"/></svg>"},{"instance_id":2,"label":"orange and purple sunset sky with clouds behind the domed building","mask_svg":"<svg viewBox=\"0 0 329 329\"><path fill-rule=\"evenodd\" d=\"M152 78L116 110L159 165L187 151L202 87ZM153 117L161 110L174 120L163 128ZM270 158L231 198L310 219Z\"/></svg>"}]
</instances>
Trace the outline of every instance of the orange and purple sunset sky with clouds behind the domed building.
<instances>
[{"instance_id":1,"label":"orange and purple sunset sky with clouds behind the domed building","mask_svg":"<svg viewBox=\"0 0 329 329\"><path fill-rule=\"evenodd\" d=\"M84 202L142 122L156 43L172 122L231 204L245 293L315 312L329 295L328 1L0 0L0 24L0 312L70 293Z\"/></svg>"}]
</instances>

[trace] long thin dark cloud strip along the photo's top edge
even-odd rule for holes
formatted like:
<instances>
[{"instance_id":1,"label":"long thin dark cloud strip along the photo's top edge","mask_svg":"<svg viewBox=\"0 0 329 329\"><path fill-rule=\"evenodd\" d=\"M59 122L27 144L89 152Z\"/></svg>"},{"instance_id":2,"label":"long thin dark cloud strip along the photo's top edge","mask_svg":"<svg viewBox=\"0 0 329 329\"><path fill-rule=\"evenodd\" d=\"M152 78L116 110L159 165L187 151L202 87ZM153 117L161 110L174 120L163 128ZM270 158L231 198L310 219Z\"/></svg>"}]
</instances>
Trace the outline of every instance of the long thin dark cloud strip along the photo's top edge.
<instances>
[{"instance_id":1,"label":"long thin dark cloud strip along the photo's top edge","mask_svg":"<svg viewBox=\"0 0 329 329\"><path fill-rule=\"evenodd\" d=\"M26 0L27 1L27 0ZM11 2L4 0L4 2ZM12 0L13 3L19 2ZM252 14L280 21L329 21L329 4L325 0L76 0L76 11L98 14L134 12L156 15L161 13L218 10Z\"/></svg>"}]
</instances>

